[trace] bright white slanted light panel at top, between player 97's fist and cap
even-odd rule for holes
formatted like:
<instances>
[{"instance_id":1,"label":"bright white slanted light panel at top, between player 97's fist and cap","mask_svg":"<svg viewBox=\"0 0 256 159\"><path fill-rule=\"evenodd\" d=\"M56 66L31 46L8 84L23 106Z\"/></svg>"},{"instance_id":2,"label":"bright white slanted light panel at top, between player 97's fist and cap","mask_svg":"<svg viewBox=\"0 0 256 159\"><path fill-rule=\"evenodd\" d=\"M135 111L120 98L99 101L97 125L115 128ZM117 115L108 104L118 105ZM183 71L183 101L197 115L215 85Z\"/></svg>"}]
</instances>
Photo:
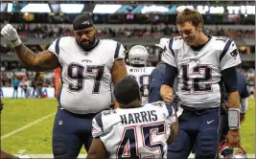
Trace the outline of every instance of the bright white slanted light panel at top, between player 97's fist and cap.
<instances>
[{"instance_id":1,"label":"bright white slanted light panel at top, between player 97's fist and cap","mask_svg":"<svg viewBox=\"0 0 256 159\"><path fill-rule=\"evenodd\" d=\"M48 4L30 3L21 9L21 12L51 12Z\"/></svg>"}]
</instances>

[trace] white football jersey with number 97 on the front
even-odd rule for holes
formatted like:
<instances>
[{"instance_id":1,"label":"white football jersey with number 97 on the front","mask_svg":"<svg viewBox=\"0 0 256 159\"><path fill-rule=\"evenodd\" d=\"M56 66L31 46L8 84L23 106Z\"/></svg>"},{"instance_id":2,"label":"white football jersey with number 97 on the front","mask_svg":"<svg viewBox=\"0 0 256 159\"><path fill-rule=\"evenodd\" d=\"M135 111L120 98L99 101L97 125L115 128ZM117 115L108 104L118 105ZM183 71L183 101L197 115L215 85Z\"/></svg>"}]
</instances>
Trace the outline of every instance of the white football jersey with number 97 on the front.
<instances>
[{"instance_id":1,"label":"white football jersey with number 97 on the front","mask_svg":"<svg viewBox=\"0 0 256 159\"><path fill-rule=\"evenodd\" d=\"M48 49L61 65L61 88L58 104L77 114L98 113L112 101L110 70L116 59L125 58L122 44L114 40L100 40L85 52L75 37L55 40Z\"/></svg>"}]
</instances>

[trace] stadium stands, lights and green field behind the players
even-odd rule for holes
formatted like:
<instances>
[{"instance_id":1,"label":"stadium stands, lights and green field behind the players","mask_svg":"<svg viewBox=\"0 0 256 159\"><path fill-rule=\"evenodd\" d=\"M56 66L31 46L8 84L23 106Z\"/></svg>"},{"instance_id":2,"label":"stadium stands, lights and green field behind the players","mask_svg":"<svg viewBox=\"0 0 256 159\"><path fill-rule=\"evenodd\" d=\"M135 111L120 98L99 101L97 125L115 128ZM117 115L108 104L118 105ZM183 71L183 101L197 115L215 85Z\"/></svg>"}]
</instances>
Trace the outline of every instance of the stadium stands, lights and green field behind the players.
<instances>
[{"instance_id":1,"label":"stadium stands, lights and green field behind the players","mask_svg":"<svg viewBox=\"0 0 256 159\"><path fill-rule=\"evenodd\" d=\"M206 34L235 40L242 57L241 71L246 78L249 108L242 125L242 144L255 153L255 2L180 1L180 2L1 2L1 28L11 23L21 40L35 53L46 50L59 36L73 35L72 21L77 14L92 15L98 36L120 41L128 50L136 44L147 46L149 65L158 62L154 44L161 37L178 35L176 13L184 8L200 11ZM1 38L1 89L5 102L1 115L1 148L12 153L50 154L51 133L57 109L59 69L42 75L42 96L36 95L36 73L26 69L13 54L12 45ZM72 54L72 53L70 53ZM13 81L20 81L18 99L12 99ZM23 85L28 84L25 94ZM27 98L25 98L27 97ZM40 99L41 98L41 99ZM82 149L81 154L85 151Z\"/></svg>"}]
</instances>

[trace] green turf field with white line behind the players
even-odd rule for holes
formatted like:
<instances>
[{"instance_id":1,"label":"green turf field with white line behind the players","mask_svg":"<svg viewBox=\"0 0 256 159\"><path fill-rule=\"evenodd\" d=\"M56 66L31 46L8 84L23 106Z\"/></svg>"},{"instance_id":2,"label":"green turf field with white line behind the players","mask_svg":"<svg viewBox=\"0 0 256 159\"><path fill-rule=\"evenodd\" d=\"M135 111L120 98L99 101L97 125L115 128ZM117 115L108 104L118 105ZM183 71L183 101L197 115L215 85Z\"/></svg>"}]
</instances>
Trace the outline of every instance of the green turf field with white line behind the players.
<instances>
[{"instance_id":1,"label":"green turf field with white line behind the players","mask_svg":"<svg viewBox=\"0 0 256 159\"><path fill-rule=\"evenodd\" d=\"M1 114L1 148L15 154L51 154L52 126L57 100L3 99L3 102L5 106ZM242 146L247 153L255 153L254 99L249 100L241 135ZM81 153L85 153L84 148Z\"/></svg>"}]
</instances>

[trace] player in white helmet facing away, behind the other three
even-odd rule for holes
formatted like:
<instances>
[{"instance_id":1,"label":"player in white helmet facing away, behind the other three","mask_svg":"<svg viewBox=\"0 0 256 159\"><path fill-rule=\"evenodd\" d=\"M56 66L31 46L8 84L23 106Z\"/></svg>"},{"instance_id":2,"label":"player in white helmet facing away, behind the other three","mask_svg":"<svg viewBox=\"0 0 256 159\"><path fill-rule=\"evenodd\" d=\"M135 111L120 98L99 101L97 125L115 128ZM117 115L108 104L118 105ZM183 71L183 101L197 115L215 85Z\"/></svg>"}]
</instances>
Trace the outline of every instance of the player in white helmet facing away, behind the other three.
<instances>
[{"instance_id":1,"label":"player in white helmet facing away, behind the other three","mask_svg":"<svg viewBox=\"0 0 256 159\"><path fill-rule=\"evenodd\" d=\"M147 67L148 50L142 45L135 45L128 51L128 75L140 85L142 103L148 102L150 95L151 72L154 67Z\"/></svg>"}]
</instances>

